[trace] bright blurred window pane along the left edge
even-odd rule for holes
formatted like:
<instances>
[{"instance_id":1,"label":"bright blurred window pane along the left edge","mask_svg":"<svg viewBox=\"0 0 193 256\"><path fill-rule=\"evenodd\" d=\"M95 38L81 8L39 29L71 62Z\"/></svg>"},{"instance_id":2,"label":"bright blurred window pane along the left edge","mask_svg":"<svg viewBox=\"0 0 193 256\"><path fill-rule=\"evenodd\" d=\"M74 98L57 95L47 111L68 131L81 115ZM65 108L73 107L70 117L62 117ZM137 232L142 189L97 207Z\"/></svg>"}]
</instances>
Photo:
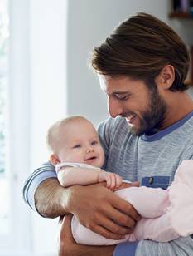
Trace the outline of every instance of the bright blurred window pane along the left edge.
<instances>
[{"instance_id":1,"label":"bright blurred window pane along the left edge","mask_svg":"<svg viewBox=\"0 0 193 256\"><path fill-rule=\"evenodd\" d=\"M7 0L0 0L0 234L9 232L9 191L7 171L7 70L8 70Z\"/></svg>"}]
</instances>

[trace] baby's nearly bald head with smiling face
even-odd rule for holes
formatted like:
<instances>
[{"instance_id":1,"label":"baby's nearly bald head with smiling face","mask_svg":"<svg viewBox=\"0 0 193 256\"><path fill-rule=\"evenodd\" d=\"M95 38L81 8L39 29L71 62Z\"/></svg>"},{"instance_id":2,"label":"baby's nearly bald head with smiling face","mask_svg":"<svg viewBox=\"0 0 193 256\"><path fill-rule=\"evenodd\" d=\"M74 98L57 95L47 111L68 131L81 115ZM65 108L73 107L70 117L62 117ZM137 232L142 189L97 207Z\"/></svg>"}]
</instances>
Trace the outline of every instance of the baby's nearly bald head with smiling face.
<instances>
[{"instance_id":1,"label":"baby's nearly bald head with smiling face","mask_svg":"<svg viewBox=\"0 0 193 256\"><path fill-rule=\"evenodd\" d=\"M74 162L102 167L104 150L93 124L82 116L57 121L47 133L51 163Z\"/></svg>"}]
</instances>

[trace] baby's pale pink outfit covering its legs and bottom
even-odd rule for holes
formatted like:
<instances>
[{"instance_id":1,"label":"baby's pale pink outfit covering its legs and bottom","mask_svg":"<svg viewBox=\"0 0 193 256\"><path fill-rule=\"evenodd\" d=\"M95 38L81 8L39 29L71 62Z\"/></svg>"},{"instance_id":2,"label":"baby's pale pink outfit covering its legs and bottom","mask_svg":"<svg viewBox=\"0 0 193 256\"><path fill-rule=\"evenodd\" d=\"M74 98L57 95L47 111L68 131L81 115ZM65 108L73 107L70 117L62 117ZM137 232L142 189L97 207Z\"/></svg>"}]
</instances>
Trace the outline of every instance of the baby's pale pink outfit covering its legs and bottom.
<instances>
[{"instance_id":1,"label":"baby's pale pink outfit covering its legs and bottom","mask_svg":"<svg viewBox=\"0 0 193 256\"><path fill-rule=\"evenodd\" d=\"M106 239L85 228L74 216L71 229L76 243L110 245L140 239L168 242L179 236L193 234L193 160L181 163L167 190L142 186L114 193L133 204L142 215L133 233L122 240Z\"/></svg>"}]
</instances>

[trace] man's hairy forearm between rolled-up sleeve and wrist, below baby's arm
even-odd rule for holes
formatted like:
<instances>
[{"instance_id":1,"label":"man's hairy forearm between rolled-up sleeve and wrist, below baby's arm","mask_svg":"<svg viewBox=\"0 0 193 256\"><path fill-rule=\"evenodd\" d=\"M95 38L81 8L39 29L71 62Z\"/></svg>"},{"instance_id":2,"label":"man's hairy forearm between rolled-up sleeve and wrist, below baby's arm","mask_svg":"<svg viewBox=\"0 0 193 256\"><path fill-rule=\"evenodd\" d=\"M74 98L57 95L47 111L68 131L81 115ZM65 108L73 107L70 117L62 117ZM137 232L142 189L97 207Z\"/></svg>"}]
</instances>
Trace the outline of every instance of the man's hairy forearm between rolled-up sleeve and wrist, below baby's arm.
<instances>
[{"instance_id":1,"label":"man's hairy forearm between rolled-up sleeve and wrist, below baby's arm","mask_svg":"<svg viewBox=\"0 0 193 256\"><path fill-rule=\"evenodd\" d=\"M41 182L35 193L37 211L44 217L55 218L68 213L70 188L64 189L57 179Z\"/></svg>"}]
</instances>

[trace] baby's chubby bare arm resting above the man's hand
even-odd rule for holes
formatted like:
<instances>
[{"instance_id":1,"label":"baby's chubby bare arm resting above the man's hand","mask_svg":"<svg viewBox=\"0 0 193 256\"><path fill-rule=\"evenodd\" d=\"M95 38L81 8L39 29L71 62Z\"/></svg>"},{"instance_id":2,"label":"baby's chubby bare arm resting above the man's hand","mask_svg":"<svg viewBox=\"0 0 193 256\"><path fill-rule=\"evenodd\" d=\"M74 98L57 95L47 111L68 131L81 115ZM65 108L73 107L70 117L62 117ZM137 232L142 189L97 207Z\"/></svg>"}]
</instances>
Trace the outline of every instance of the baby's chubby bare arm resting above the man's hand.
<instances>
[{"instance_id":1,"label":"baby's chubby bare arm resting above the man's hand","mask_svg":"<svg viewBox=\"0 0 193 256\"><path fill-rule=\"evenodd\" d=\"M102 169L65 166L57 172L57 175L60 185L64 187L69 187L70 185L91 185L106 181L107 187L113 190L122 184L122 178L119 175Z\"/></svg>"}]
</instances>

